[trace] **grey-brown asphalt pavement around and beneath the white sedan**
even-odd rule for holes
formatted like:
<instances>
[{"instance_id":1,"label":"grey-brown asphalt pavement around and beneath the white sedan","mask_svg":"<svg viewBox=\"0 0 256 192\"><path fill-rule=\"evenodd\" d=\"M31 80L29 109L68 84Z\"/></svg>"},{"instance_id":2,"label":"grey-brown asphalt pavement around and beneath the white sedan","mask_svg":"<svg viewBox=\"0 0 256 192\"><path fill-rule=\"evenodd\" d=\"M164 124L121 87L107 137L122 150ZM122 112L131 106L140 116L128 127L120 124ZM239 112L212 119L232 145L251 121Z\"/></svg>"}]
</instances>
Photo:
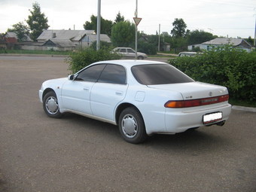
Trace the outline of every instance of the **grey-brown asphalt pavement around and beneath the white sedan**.
<instances>
[{"instance_id":1,"label":"grey-brown asphalt pavement around and beneath the white sedan","mask_svg":"<svg viewBox=\"0 0 256 192\"><path fill-rule=\"evenodd\" d=\"M0 56L0 191L256 191L256 113L141 145L76 114L53 119L41 82L69 74L59 57Z\"/></svg>"}]
</instances>

